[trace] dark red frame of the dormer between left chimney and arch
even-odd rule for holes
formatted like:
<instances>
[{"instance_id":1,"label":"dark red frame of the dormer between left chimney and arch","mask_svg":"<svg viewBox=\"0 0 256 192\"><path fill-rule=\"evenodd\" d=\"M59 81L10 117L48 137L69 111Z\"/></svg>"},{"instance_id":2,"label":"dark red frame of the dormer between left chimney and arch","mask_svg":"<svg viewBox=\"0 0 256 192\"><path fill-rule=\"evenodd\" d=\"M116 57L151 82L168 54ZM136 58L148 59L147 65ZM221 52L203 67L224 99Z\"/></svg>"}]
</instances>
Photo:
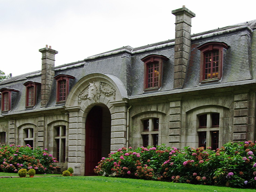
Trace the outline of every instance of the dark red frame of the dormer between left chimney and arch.
<instances>
[{"instance_id":1,"label":"dark red frame of the dormer between left chimney and arch","mask_svg":"<svg viewBox=\"0 0 256 192\"><path fill-rule=\"evenodd\" d=\"M58 74L54 77L56 80L56 103L63 103L67 99L67 95L69 93L69 84L70 84L70 79L74 79L75 77L71 75L65 75L65 74ZM64 100L60 100L60 82L61 81L66 81L66 98Z\"/></svg>"}]
</instances>

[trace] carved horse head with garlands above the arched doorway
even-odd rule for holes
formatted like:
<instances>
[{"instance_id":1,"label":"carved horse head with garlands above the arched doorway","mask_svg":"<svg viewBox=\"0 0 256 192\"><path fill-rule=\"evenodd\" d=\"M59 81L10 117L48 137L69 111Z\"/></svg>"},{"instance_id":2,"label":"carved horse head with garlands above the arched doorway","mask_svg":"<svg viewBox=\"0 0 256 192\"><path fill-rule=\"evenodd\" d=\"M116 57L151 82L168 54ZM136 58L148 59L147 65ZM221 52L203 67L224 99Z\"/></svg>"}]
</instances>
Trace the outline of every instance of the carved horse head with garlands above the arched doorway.
<instances>
[{"instance_id":1,"label":"carved horse head with garlands above the arched doorway","mask_svg":"<svg viewBox=\"0 0 256 192\"><path fill-rule=\"evenodd\" d=\"M99 85L97 85L93 81L87 89L79 94L78 103L81 104L82 100L86 99L98 102L101 94L104 94L106 97L113 96L113 100L116 100L116 90L113 87L110 87L107 83L103 82L100 82Z\"/></svg>"}]
</instances>

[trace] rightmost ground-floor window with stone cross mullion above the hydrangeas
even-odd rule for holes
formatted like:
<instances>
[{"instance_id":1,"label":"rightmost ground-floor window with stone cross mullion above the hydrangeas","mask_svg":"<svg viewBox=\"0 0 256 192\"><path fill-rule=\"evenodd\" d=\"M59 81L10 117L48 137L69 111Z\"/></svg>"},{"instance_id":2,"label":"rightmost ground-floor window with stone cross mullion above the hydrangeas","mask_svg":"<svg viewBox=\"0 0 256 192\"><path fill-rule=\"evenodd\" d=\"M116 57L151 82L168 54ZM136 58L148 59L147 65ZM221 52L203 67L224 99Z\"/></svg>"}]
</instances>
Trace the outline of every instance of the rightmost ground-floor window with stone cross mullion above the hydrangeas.
<instances>
[{"instance_id":1,"label":"rightmost ground-floor window with stone cross mullion above the hydrangeas","mask_svg":"<svg viewBox=\"0 0 256 192\"><path fill-rule=\"evenodd\" d=\"M199 147L204 148L211 146L212 150L216 150L219 146L219 113L207 113L199 116ZM209 135L209 136L208 136ZM211 143L211 145L209 144Z\"/></svg>"}]
</instances>

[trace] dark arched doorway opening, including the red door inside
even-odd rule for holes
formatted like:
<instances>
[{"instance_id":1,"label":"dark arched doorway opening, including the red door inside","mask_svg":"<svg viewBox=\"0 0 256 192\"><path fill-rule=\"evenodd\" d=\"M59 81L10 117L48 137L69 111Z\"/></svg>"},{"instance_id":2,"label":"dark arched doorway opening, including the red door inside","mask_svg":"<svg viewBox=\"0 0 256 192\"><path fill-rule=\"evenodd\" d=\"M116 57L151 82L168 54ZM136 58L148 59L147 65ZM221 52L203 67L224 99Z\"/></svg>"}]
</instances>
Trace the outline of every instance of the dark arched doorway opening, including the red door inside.
<instances>
[{"instance_id":1,"label":"dark arched doorway opening, including the red door inside","mask_svg":"<svg viewBox=\"0 0 256 192\"><path fill-rule=\"evenodd\" d=\"M104 104L94 106L85 123L85 172L95 175L93 169L103 156L110 153L111 114Z\"/></svg>"}]
</instances>

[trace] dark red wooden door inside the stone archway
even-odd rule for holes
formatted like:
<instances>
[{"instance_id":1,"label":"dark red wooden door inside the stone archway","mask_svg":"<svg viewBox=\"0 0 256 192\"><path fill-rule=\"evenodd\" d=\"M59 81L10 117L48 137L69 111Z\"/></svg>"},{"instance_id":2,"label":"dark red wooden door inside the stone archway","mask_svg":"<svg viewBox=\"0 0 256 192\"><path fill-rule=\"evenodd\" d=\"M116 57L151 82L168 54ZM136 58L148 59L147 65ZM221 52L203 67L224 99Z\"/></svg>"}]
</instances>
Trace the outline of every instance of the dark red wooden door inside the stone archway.
<instances>
[{"instance_id":1,"label":"dark red wooden door inside the stone archway","mask_svg":"<svg viewBox=\"0 0 256 192\"><path fill-rule=\"evenodd\" d=\"M94 106L85 123L85 173L97 175L93 169L101 160L102 108Z\"/></svg>"}]
</instances>

